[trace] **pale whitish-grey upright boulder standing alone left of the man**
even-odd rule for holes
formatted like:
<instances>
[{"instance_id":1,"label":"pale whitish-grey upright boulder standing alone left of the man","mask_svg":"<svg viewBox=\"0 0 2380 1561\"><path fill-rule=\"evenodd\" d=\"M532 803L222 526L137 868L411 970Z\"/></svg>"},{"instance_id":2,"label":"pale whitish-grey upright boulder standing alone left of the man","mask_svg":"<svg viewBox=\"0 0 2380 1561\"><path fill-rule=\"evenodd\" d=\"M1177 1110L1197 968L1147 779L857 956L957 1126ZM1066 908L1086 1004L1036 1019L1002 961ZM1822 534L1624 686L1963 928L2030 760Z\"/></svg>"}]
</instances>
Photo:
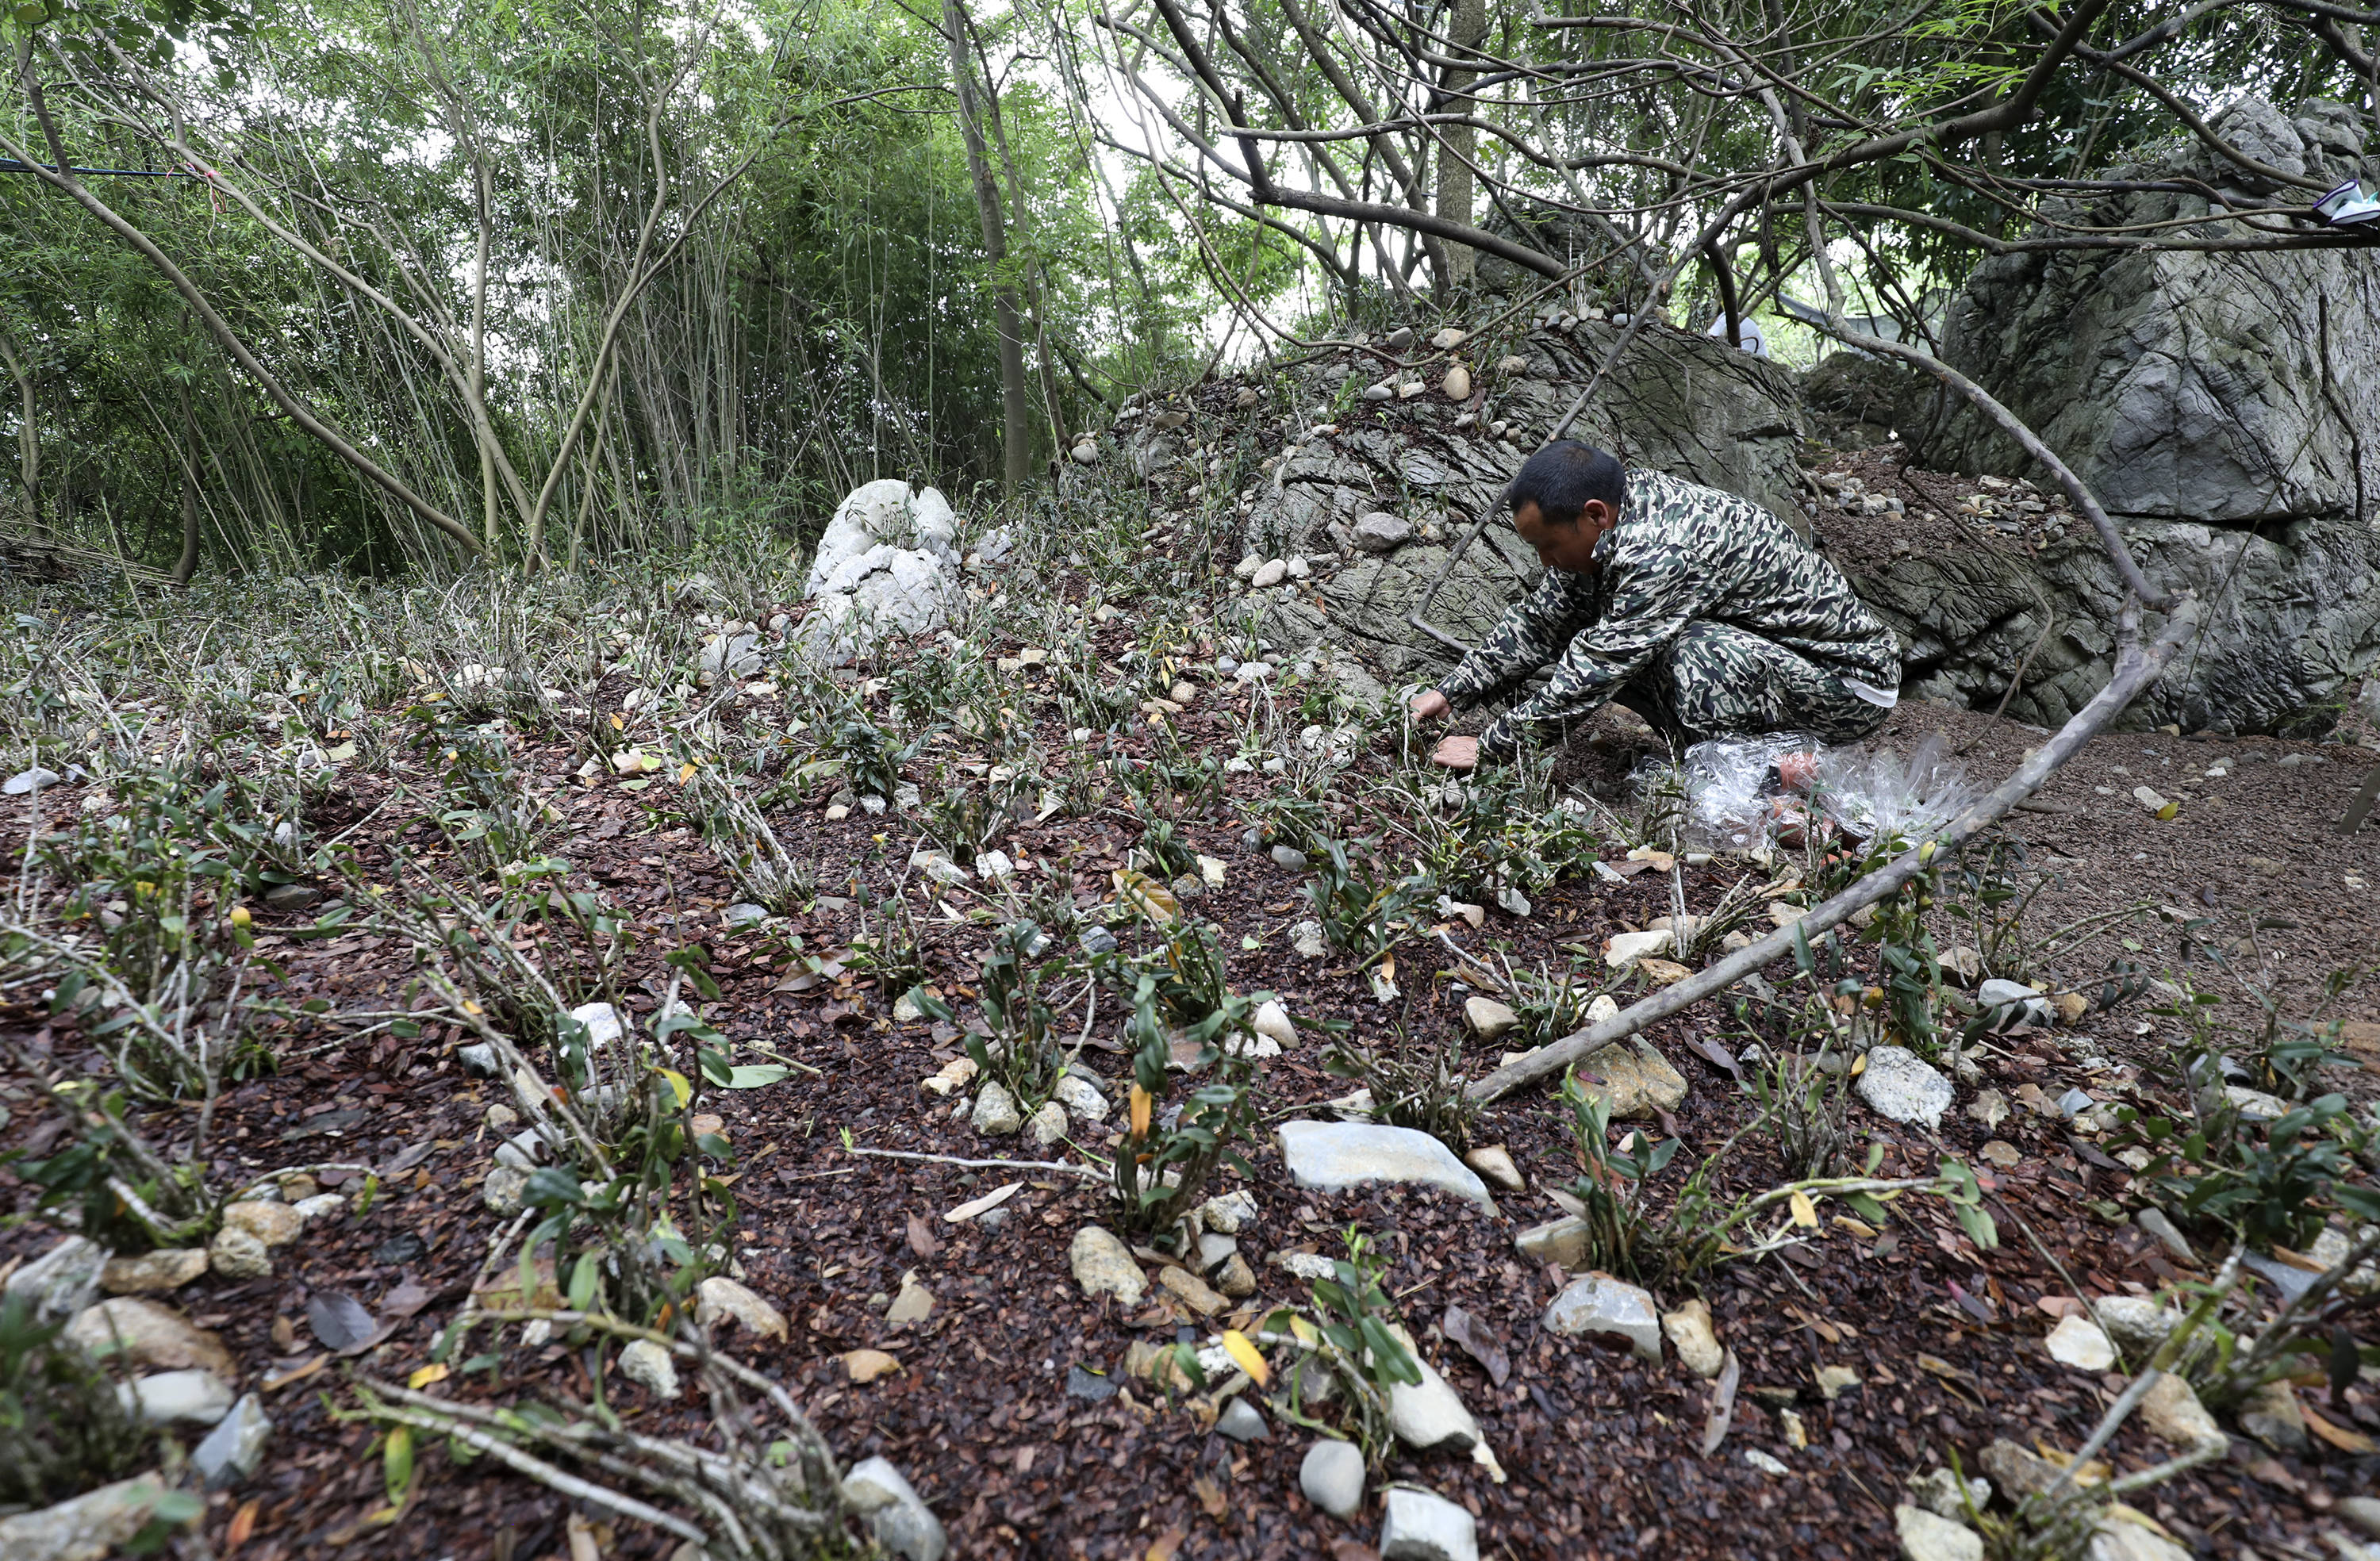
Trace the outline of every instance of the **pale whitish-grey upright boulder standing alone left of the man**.
<instances>
[{"instance_id":1,"label":"pale whitish-grey upright boulder standing alone left of the man","mask_svg":"<svg viewBox=\"0 0 2380 1561\"><path fill-rule=\"evenodd\" d=\"M816 602L795 631L826 662L866 654L885 633L938 628L959 595L959 516L938 488L862 483L835 507L809 564Z\"/></svg>"}]
</instances>

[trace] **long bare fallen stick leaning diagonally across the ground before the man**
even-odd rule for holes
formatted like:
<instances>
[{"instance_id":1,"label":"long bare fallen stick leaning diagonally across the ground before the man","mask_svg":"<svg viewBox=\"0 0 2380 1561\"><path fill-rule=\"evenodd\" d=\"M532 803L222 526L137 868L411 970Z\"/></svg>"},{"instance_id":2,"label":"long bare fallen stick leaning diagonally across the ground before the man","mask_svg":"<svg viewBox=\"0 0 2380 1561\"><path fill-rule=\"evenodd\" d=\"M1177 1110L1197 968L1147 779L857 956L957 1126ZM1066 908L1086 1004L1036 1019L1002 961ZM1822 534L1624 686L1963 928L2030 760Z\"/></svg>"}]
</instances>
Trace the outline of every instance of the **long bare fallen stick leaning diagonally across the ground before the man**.
<instances>
[{"instance_id":1,"label":"long bare fallen stick leaning diagonally across the ground before the man","mask_svg":"<svg viewBox=\"0 0 2380 1561\"><path fill-rule=\"evenodd\" d=\"M2018 802L2037 792L2042 783L2047 783L2049 776L2066 764L2066 759L2099 735L2099 731L2113 721L2142 688L2156 681L2156 676L2166 669L2166 662L2173 659L2173 652L2187 645L2197 631L2199 604L2197 600L2182 600L2149 645L2137 652L2128 652L2116 662L2116 676L2106 681L2106 688L2102 688L2090 704L2075 711L2073 721L2052 733L2052 738L2042 742L2030 759L2018 764L2016 773L2002 780L1990 795L1959 814L1940 838L1894 857L1890 864L1802 916L1795 926L1778 928L1752 947L1728 954L1711 968L1687 976L1678 985L1664 988L1661 992L1621 1009L1599 1026L1564 1035L1557 1042L1542 1045L1535 1052L1504 1064L1495 1073L1476 1080L1466 1095L1476 1102L1502 1099L1521 1085L1557 1076L1571 1064L1583 1061L1609 1045L1628 1040L1659 1018L1668 1018L1704 997L1726 992L1771 959L1783 959L1792 949L1797 930L1806 938L1816 938L1847 921L1859 909L1899 892L1904 883L1930 869L1942 852L1966 845L1983 830L2006 819Z\"/></svg>"}]
</instances>

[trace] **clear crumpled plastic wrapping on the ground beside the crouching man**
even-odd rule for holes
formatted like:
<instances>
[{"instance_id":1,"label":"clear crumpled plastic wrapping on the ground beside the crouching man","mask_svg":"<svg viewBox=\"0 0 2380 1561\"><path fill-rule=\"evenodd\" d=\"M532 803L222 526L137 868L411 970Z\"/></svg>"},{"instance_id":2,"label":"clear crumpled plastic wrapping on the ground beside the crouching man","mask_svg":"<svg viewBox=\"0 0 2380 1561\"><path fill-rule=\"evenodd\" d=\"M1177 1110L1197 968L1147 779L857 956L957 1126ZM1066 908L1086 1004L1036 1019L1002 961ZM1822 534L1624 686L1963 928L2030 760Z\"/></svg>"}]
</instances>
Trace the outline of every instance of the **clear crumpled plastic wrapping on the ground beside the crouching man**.
<instances>
[{"instance_id":1,"label":"clear crumpled plastic wrapping on the ground beside the crouching man","mask_svg":"<svg viewBox=\"0 0 2380 1561\"><path fill-rule=\"evenodd\" d=\"M1806 800L1780 785L1778 759L1792 754L1816 754ZM1830 750L1809 733L1714 738L1685 750L1678 766L1640 766L1633 780L1637 795L1671 785L1683 792L1680 845L1697 852L1799 847L1811 809L1861 840L1878 833L1921 840L1978 795L1940 735L1928 735L1906 757L1871 742Z\"/></svg>"}]
</instances>

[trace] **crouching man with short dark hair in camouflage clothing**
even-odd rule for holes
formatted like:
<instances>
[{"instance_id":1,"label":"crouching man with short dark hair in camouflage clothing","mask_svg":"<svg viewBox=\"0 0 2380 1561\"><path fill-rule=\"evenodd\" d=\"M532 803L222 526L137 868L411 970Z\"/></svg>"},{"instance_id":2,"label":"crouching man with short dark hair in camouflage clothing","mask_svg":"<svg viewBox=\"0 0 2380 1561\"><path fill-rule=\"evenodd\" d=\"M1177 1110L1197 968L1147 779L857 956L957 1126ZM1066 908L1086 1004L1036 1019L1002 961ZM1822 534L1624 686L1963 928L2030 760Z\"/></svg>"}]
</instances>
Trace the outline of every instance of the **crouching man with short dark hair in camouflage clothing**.
<instances>
[{"instance_id":1,"label":"crouching man with short dark hair in camouflage clothing","mask_svg":"<svg viewBox=\"0 0 2380 1561\"><path fill-rule=\"evenodd\" d=\"M1528 457L1504 500L1545 581L1438 688L1416 721L1507 695L1554 664L1547 688L1438 761L1511 759L1552 745L1606 700L1673 742L1806 731L1852 742L1899 700L1902 652L1849 581L1749 500L1559 440ZM1559 659L1557 659L1559 657Z\"/></svg>"}]
</instances>

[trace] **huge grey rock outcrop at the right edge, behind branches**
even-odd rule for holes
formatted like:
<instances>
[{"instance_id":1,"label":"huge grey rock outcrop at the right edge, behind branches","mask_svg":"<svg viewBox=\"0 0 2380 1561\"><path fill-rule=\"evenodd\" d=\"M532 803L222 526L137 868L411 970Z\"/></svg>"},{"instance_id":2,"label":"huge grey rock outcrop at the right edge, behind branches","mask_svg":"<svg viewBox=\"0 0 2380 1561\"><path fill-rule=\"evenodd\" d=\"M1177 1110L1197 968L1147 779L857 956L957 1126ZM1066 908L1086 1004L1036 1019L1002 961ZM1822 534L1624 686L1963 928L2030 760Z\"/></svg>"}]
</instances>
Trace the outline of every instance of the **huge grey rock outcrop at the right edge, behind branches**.
<instances>
[{"instance_id":1,"label":"huge grey rock outcrop at the right edge, behind branches","mask_svg":"<svg viewBox=\"0 0 2380 1561\"><path fill-rule=\"evenodd\" d=\"M2242 98L2216 128L2287 174L2380 178L2356 112L2337 102L2282 114ZM2197 143L2113 176L2304 198ZM2075 200L2063 214L2104 228L2209 209L2204 195L2161 188ZM2232 233L2232 224L2204 228ZM1997 255L1952 300L1942 355L2075 466L2152 581L2197 590L2206 604L2199 645L2128 723L2232 733L2330 723L2325 707L2380 657L2380 252ZM1916 438L1937 469L2033 466L1964 407L1925 419ZM1856 583L1902 631L1911 678L1937 678L1937 695L1997 702L2035 642L2011 704L2018 719L2063 721L2109 678L2106 626L2121 590L2087 535L2037 559L1980 550L1899 559Z\"/></svg>"}]
</instances>

